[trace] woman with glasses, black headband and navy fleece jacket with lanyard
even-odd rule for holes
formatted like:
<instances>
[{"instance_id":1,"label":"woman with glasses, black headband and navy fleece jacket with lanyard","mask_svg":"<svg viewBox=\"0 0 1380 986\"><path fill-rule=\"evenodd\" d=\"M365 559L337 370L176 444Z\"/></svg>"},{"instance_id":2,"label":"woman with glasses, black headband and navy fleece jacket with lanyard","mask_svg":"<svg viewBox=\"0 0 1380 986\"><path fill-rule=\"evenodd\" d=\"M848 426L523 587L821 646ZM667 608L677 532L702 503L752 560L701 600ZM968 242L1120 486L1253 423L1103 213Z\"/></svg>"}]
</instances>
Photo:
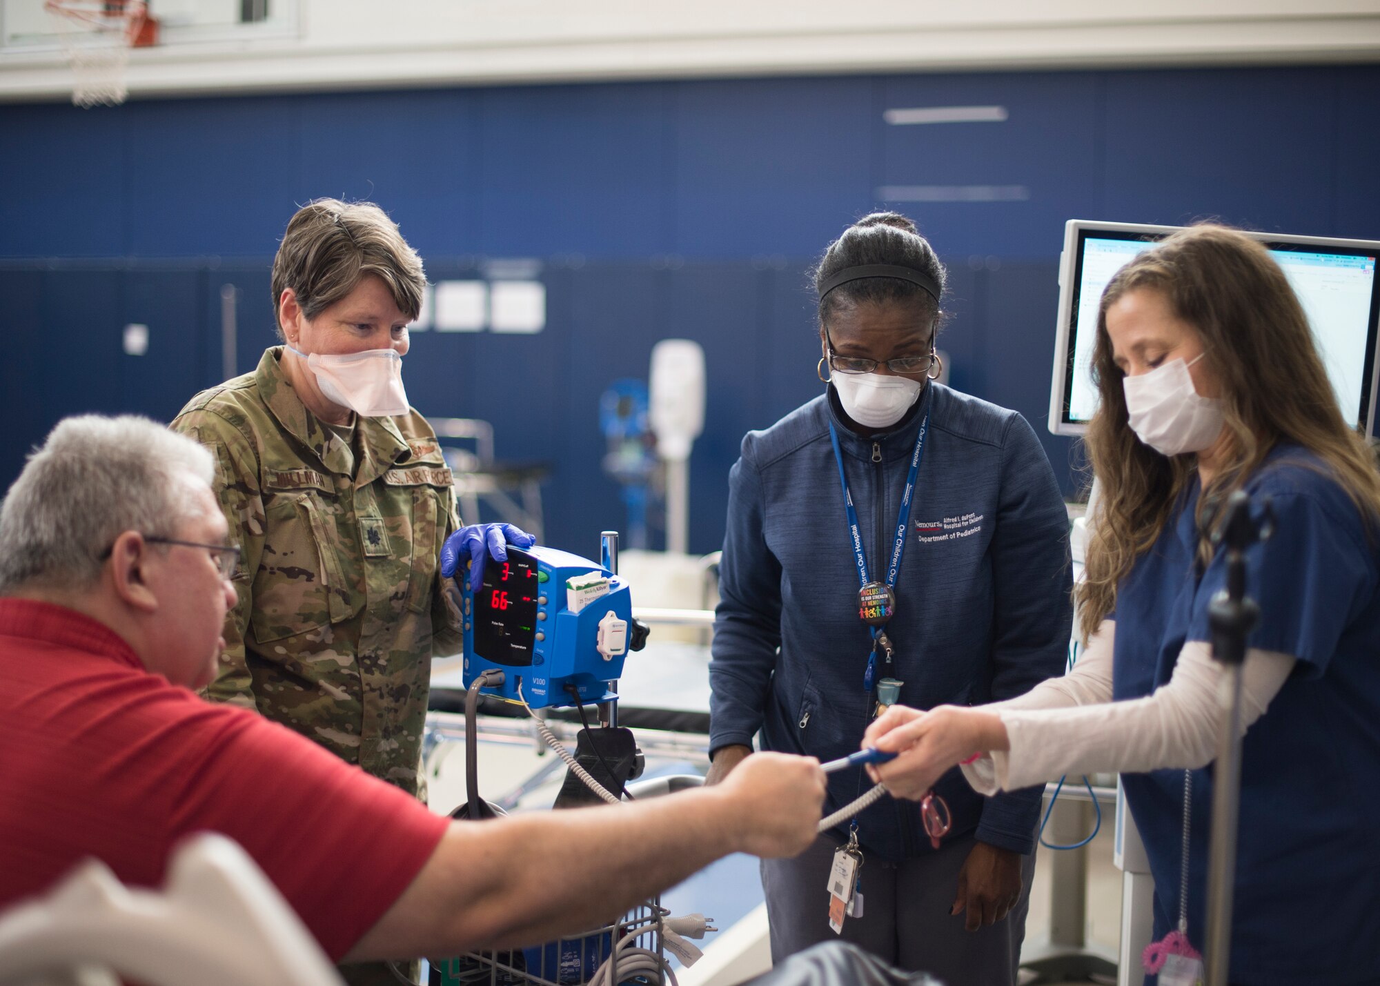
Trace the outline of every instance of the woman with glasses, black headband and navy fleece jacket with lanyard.
<instances>
[{"instance_id":1,"label":"woman with glasses, black headband and navy fleece jacket with lanyard","mask_svg":"<svg viewBox=\"0 0 1380 986\"><path fill-rule=\"evenodd\" d=\"M937 383L944 279L894 213L860 220L820 262L825 391L749 432L729 476L711 783L753 736L834 760L858 748L879 700L985 703L1064 668L1058 486L1020 414ZM861 768L832 775L827 809L869 786ZM827 884L846 851L861 902L845 940L944 982L1014 983L1039 790L984 798L955 769L934 794L951 816L938 837L920 805L885 798L763 863L774 958L835 936Z\"/></svg>"}]
</instances>

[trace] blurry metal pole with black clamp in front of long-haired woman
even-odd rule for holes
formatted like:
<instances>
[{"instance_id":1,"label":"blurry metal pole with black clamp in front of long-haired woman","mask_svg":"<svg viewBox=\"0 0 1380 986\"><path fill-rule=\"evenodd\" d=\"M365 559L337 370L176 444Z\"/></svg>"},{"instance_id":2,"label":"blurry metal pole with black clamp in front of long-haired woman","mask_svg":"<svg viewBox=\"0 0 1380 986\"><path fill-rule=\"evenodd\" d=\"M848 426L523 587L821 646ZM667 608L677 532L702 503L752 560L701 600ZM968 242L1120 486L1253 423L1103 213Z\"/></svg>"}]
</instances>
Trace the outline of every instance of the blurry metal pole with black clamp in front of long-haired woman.
<instances>
[{"instance_id":1,"label":"blurry metal pole with black clamp in front of long-haired woman","mask_svg":"<svg viewBox=\"0 0 1380 986\"><path fill-rule=\"evenodd\" d=\"M1246 548L1270 537L1271 514L1257 529L1250 497L1236 490L1213 541L1227 547L1227 586L1208 606L1212 650L1224 668L1219 703L1217 765L1213 771L1212 840L1208 858L1208 986L1227 986L1231 960L1231 910L1236 876L1236 819L1241 808L1241 668L1246 638L1260 621L1260 606L1246 597Z\"/></svg>"}]
</instances>

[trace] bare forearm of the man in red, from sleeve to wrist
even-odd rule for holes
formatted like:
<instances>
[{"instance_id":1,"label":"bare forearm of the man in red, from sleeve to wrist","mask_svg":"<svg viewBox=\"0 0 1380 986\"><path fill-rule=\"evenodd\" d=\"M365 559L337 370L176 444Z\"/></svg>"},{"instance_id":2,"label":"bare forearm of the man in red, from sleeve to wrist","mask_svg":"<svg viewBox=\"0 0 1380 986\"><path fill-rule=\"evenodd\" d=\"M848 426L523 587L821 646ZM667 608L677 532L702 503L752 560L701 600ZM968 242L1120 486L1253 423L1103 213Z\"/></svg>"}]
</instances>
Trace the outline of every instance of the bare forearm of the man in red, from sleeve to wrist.
<instances>
[{"instance_id":1,"label":"bare forearm of the man in red, from sleeve to wrist","mask_svg":"<svg viewBox=\"0 0 1380 986\"><path fill-rule=\"evenodd\" d=\"M349 958L457 954L591 931L742 848L738 833L722 789L457 822ZM410 918L391 921L395 911Z\"/></svg>"}]
</instances>

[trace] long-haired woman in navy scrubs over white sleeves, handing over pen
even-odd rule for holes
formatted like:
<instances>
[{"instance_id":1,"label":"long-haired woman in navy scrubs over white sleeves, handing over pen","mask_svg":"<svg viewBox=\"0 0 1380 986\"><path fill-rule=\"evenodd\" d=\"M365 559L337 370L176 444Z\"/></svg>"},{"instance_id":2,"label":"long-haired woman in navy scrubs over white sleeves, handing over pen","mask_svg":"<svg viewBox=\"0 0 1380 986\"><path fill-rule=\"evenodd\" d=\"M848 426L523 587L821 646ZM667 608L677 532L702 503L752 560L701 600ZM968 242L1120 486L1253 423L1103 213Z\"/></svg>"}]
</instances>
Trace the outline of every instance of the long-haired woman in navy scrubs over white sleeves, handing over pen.
<instances>
[{"instance_id":1,"label":"long-haired woman in navy scrubs over white sleeves, handing over pen","mask_svg":"<svg viewBox=\"0 0 1380 986\"><path fill-rule=\"evenodd\" d=\"M864 743L919 797L965 766L980 791L1121 771L1155 876L1156 939L1205 921L1220 670L1210 540L1243 490L1274 533L1246 552L1261 619L1243 667L1232 983L1380 982L1380 472L1343 420L1307 318L1265 249L1203 225L1130 261L1101 298L1087 434L1100 481L1085 655L1010 702L893 708ZM1268 713L1268 714L1267 714ZM1170 960L1174 963L1181 958Z\"/></svg>"}]
</instances>

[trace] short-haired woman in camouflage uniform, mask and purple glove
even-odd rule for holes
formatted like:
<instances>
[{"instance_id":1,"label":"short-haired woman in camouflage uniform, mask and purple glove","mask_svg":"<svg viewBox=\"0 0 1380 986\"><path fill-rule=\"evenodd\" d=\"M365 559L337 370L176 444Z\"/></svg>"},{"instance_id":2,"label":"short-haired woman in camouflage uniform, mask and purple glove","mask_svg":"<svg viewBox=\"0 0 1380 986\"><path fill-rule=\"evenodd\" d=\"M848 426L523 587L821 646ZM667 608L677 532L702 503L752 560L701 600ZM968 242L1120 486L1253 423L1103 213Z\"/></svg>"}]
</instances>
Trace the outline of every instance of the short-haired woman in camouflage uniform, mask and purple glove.
<instances>
[{"instance_id":1,"label":"short-haired woman in camouflage uniform, mask and purple glove","mask_svg":"<svg viewBox=\"0 0 1380 986\"><path fill-rule=\"evenodd\" d=\"M502 558L504 534L531 543L508 525L458 529L436 435L407 406L400 358L425 284L421 258L377 206L304 206L273 261L286 345L197 394L172 423L215 454L240 547L239 603L210 697L255 708L411 794L431 657L461 648L442 547L450 537L462 566L482 563L486 544ZM386 982L388 971L353 967L346 978Z\"/></svg>"}]
</instances>

